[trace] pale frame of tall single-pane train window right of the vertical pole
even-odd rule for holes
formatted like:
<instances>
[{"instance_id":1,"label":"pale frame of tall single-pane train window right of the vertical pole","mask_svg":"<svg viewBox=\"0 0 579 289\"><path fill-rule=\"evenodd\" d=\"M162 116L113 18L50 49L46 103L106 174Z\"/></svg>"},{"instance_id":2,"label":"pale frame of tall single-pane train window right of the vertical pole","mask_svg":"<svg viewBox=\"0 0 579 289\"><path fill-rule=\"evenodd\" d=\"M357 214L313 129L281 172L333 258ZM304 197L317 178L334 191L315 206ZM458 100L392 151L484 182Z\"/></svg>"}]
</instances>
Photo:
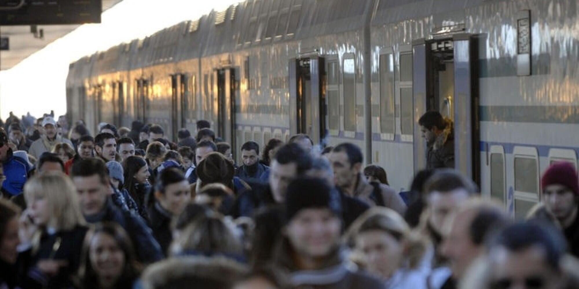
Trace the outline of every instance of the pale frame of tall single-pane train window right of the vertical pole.
<instances>
[{"instance_id":1,"label":"pale frame of tall single-pane train window right of the vertical pole","mask_svg":"<svg viewBox=\"0 0 579 289\"><path fill-rule=\"evenodd\" d=\"M392 116L392 124L393 124L393 131L384 132L382 127L382 119L383 116L383 108L382 108L382 57L384 55L390 55L390 65L392 67L392 95L391 101L393 105L393 116ZM382 140L394 140L394 136L396 135L396 64L394 61L394 50L391 47L380 49L380 54L378 55L378 90L379 90L379 99L378 99L378 107L379 107L379 119L378 119L378 127L379 127L379 134L380 139Z\"/></svg>"}]
</instances>

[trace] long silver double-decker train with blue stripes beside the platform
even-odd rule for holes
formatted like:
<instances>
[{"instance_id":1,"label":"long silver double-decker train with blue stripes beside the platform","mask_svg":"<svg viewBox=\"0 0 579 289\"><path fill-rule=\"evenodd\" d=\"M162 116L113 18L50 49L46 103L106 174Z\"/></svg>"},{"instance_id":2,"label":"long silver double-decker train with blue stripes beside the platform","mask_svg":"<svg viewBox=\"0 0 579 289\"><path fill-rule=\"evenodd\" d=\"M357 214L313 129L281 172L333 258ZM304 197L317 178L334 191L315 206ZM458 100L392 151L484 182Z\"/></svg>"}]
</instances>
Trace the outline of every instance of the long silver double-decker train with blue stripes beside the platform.
<instances>
[{"instance_id":1,"label":"long silver double-decker train with blue stripes beside the platform","mask_svg":"<svg viewBox=\"0 0 579 289\"><path fill-rule=\"evenodd\" d=\"M159 4L162 5L162 4ZM178 9L178 8L176 8ZM454 122L456 169L522 218L579 154L577 0L247 0L71 63L67 117L208 120L235 153L308 134L351 142L407 190L417 120ZM239 160L239 154L236 154Z\"/></svg>"}]
</instances>

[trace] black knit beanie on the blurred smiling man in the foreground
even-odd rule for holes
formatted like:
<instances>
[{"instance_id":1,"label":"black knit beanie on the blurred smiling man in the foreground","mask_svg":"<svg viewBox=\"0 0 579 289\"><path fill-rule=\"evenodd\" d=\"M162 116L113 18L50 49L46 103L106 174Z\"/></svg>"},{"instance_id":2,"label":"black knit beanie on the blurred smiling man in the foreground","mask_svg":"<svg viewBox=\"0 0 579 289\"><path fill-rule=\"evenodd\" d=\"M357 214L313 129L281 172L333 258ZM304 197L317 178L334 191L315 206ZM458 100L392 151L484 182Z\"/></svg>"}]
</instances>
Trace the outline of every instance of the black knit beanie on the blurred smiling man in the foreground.
<instances>
[{"instance_id":1,"label":"black knit beanie on the blurred smiling man in the foreground","mask_svg":"<svg viewBox=\"0 0 579 289\"><path fill-rule=\"evenodd\" d=\"M342 218L338 191L322 179L303 177L289 184L285 195L285 220L289 222L302 209L329 209Z\"/></svg>"}]
</instances>

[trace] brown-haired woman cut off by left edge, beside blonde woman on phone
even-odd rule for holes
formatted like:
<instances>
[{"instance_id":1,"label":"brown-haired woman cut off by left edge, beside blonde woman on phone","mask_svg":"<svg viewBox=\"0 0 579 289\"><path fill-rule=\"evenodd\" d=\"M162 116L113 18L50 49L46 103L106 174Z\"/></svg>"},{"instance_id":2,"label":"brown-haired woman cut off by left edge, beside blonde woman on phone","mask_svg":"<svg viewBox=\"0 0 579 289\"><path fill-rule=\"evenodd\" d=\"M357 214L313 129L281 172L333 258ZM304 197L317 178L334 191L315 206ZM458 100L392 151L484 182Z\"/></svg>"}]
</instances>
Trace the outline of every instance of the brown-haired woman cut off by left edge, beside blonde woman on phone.
<instances>
[{"instance_id":1,"label":"brown-haired woman cut off by left edge, beside blonde woman on phone","mask_svg":"<svg viewBox=\"0 0 579 289\"><path fill-rule=\"evenodd\" d=\"M20 209L5 199L0 199L0 288L17 286L18 217Z\"/></svg>"}]
</instances>

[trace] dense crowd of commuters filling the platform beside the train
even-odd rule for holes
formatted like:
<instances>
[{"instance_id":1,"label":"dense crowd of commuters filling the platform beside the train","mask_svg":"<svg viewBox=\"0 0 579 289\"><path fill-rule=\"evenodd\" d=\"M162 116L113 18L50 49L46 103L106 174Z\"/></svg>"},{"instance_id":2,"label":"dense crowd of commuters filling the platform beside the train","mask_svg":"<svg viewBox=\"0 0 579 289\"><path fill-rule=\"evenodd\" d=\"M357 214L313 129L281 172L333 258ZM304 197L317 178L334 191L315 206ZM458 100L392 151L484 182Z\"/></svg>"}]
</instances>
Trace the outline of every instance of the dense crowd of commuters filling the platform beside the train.
<instances>
[{"instance_id":1,"label":"dense crowd of commuters filling the platform beside the train","mask_svg":"<svg viewBox=\"0 0 579 289\"><path fill-rule=\"evenodd\" d=\"M11 115L0 289L579 288L574 165L551 164L543 202L514 220L453 169L452 122L419 124L427 169L398 192L352 143Z\"/></svg>"}]
</instances>

